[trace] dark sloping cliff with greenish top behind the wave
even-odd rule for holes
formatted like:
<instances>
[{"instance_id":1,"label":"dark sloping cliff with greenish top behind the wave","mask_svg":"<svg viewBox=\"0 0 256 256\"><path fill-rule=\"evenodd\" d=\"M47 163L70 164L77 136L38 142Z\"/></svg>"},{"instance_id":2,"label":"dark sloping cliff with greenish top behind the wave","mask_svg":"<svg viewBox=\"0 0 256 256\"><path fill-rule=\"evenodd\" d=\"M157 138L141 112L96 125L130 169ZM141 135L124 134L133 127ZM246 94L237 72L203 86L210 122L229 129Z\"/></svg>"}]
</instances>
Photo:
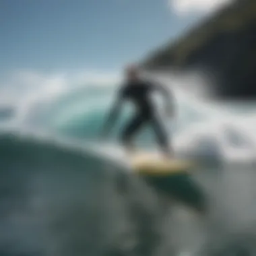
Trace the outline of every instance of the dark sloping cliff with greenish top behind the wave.
<instances>
[{"instance_id":1,"label":"dark sloping cliff with greenish top behind the wave","mask_svg":"<svg viewBox=\"0 0 256 256\"><path fill-rule=\"evenodd\" d=\"M216 75L216 93L256 98L256 1L233 5L156 51L146 69L205 69Z\"/></svg>"}]
</instances>

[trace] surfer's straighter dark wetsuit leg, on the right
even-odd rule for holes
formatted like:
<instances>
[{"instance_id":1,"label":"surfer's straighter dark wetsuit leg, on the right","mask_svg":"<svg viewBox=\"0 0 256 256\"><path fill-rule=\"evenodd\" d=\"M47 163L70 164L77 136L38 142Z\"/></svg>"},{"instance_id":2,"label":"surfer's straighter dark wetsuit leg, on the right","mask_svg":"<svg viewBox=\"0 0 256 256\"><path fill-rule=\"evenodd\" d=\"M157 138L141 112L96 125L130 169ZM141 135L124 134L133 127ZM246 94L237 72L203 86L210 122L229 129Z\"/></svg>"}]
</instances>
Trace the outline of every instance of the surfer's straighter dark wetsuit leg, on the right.
<instances>
[{"instance_id":1,"label":"surfer's straighter dark wetsuit leg, on the right","mask_svg":"<svg viewBox=\"0 0 256 256\"><path fill-rule=\"evenodd\" d=\"M170 148L170 145L169 145L168 134L165 131L158 117L155 117L155 116L152 117L152 126L156 134L156 139L158 141L158 144L168 156L172 156L172 149Z\"/></svg>"}]
</instances>

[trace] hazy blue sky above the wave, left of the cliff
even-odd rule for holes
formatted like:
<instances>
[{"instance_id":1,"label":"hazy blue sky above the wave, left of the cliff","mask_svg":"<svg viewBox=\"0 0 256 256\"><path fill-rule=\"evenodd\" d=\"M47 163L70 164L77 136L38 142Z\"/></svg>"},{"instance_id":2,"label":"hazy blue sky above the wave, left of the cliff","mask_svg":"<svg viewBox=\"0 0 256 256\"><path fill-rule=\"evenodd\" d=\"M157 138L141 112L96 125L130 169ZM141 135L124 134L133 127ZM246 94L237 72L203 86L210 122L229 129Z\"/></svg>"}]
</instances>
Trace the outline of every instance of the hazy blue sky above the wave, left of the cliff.
<instances>
[{"instance_id":1,"label":"hazy blue sky above the wave, left of the cliff","mask_svg":"<svg viewBox=\"0 0 256 256\"><path fill-rule=\"evenodd\" d=\"M197 17L166 0L0 0L0 70L118 69Z\"/></svg>"}]
</instances>

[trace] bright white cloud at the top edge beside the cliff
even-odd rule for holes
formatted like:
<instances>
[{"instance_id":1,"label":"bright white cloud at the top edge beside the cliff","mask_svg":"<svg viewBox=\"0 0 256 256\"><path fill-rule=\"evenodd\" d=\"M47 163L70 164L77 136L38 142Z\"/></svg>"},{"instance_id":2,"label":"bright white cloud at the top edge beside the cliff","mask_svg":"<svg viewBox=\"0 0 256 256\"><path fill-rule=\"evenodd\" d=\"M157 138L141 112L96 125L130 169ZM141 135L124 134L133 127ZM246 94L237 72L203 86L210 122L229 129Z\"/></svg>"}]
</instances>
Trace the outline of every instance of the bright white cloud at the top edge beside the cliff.
<instances>
[{"instance_id":1,"label":"bright white cloud at the top edge beside the cliff","mask_svg":"<svg viewBox=\"0 0 256 256\"><path fill-rule=\"evenodd\" d=\"M179 15L189 13L210 14L234 0L168 0L170 7Z\"/></svg>"}]
</instances>

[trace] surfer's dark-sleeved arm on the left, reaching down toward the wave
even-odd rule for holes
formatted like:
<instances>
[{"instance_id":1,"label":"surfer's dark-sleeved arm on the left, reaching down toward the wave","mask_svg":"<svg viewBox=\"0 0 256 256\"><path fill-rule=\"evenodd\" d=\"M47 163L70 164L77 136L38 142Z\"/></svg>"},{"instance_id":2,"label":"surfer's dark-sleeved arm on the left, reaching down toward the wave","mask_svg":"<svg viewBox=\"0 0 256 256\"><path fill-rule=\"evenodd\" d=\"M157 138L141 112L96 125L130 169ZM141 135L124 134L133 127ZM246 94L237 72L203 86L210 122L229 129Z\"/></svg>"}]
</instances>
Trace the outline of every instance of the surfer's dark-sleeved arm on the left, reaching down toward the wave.
<instances>
[{"instance_id":1,"label":"surfer's dark-sleeved arm on the left, reaching down toward the wave","mask_svg":"<svg viewBox=\"0 0 256 256\"><path fill-rule=\"evenodd\" d=\"M110 113L108 113L108 116L106 118L106 121L104 123L102 135L105 137L108 135L110 129L115 124L115 121L117 120L117 117L119 115L119 111L121 110L121 105L123 103L123 100L125 98L125 88L121 88L119 92L117 92L117 96L115 98L115 102L110 109Z\"/></svg>"}]
</instances>

